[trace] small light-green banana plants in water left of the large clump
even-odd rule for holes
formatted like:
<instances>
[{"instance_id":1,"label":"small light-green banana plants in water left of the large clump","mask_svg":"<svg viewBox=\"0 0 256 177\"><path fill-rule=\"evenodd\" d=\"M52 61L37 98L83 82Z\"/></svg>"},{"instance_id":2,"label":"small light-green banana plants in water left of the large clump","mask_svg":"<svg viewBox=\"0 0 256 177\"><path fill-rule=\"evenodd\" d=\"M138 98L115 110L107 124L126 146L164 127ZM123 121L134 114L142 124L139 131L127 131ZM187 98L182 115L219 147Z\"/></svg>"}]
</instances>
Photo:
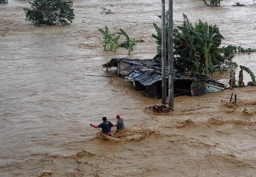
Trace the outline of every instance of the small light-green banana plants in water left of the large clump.
<instances>
[{"instance_id":1,"label":"small light-green banana plants in water left of the large clump","mask_svg":"<svg viewBox=\"0 0 256 177\"><path fill-rule=\"evenodd\" d=\"M123 47L128 50L128 55L131 55L131 51L133 51L134 46L137 43L143 43L143 40L136 40L135 38L130 38L128 34L120 29L120 33L110 34L108 27L105 26L105 29L99 29L100 33L103 34L103 47L104 51L117 51L118 48ZM125 39L122 43L119 42L120 38L124 37Z\"/></svg>"}]
</instances>

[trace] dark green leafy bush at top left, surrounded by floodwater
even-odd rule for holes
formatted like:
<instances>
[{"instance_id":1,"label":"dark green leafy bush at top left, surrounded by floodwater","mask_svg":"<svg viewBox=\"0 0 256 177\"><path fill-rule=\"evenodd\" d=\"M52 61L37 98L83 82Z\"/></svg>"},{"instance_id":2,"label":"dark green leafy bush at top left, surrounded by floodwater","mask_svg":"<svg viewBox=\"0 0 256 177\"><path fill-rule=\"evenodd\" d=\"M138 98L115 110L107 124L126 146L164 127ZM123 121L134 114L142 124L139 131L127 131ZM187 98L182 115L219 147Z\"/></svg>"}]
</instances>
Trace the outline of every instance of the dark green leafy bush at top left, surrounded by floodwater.
<instances>
[{"instance_id":1,"label":"dark green leafy bush at top left, surrounded by floodwater","mask_svg":"<svg viewBox=\"0 0 256 177\"><path fill-rule=\"evenodd\" d=\"M24 9L26 20L36 26L42 24L69 24L75 19L73 2L62 0L34 0L29 2L32 9Z\"/></svg>"}]
</instances>

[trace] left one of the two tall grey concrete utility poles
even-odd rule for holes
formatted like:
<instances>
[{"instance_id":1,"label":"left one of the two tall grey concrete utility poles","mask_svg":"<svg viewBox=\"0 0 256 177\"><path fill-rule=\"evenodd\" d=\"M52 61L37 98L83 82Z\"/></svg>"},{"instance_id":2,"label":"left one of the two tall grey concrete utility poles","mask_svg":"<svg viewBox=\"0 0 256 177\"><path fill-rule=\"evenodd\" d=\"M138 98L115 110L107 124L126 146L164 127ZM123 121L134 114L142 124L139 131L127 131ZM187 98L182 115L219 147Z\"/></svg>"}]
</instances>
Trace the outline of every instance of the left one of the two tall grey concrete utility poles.
<instances>
[{"instance_id":1,"label":"left one of the two tall grey concrete utility poles","mask_svg":"<svg viewBox=\"0 0 256 177\"><path fill-rule=\"evenodd\" d=\"M165 0L162 0L162 105L166 105L166 24Z\"/></svg>"}]
</instances>

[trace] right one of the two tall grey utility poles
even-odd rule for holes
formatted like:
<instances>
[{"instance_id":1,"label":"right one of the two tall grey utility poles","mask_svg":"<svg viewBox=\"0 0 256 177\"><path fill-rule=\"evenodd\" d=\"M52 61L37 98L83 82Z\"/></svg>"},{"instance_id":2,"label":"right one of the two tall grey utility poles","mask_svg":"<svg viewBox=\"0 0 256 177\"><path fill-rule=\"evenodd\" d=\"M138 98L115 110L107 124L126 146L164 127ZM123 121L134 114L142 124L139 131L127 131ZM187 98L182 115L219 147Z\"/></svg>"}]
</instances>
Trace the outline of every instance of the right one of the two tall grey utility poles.
<instances>
[{"instance_id":1,"label":"right one of the two tall grey utility poles","mask_svg":"<svg viewBox=\"0 0 256 177\"><path fill-rule=\"evenodd\" d=\"M169 107L174 110L174 84L173 84L173 0L169 0Z\"/></svg>"}]
</instances>

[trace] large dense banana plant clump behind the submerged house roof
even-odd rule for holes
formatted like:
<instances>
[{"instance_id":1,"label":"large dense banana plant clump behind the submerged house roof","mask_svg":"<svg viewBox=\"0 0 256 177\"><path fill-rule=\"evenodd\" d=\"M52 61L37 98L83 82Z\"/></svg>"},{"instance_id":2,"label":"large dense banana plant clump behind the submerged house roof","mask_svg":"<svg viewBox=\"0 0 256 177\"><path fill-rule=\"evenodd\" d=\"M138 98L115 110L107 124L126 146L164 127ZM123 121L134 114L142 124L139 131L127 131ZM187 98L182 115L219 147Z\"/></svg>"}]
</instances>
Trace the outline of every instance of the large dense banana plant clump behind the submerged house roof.
<instances>
[{"instance_id":1,"label":"large dense banana plant clump behind the submerged house roof","mask_svg":"<svg viewBox=\"0 0 256 177\"><path fill-rule=\"evenodd\" d=\"M168 14L166 17L166 31L168 29ZM204 73L209 75L216 69L236 67L232 62L234 57L234 46L220 47L224 37L219 33L219 28L209 25L207 22L199 20L193 26L188 17L183 14L183 26L177 26L173 30L174 36L174 64L180 65L185 70ZM161 59L162 54L162 30L155 23L153 26L157 34L152 34L156 38L157 55L156 60ZM166 34L168 41L168 34ZM167 47L167 46L166 46ZM168 51L166 50L168 56Z\"/></svg>"}]
</instances>

